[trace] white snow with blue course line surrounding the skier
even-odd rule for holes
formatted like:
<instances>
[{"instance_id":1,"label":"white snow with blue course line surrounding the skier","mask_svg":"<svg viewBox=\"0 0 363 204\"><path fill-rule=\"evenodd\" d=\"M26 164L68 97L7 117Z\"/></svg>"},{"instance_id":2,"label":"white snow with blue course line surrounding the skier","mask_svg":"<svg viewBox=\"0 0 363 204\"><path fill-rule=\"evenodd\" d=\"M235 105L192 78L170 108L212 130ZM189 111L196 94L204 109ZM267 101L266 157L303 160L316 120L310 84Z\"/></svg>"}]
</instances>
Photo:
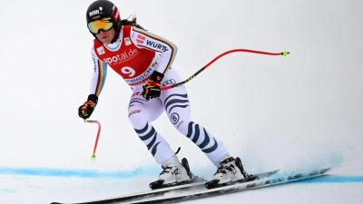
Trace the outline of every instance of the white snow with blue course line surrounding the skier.
<instances>
[{"instance_id":1,"label":"white snow with blue course line surrounding the skier","mask_svg":"<svg viewBox=\"0 0 363 204\"><path fill-rule=\"evenodd\" d=\"M93 72L91 0L2 0L0 203L46 204L147 190L161 168L127 119L130 88L109 72L92 119L77 116ZM363 203L363 2L114 1L179 48L192 118L250 173L332 167L329 176L186 203ZM223 84L221 84L223 82ZM195 174L214 167L165 115L153 122Z\"/></svg>"}]
</instances>

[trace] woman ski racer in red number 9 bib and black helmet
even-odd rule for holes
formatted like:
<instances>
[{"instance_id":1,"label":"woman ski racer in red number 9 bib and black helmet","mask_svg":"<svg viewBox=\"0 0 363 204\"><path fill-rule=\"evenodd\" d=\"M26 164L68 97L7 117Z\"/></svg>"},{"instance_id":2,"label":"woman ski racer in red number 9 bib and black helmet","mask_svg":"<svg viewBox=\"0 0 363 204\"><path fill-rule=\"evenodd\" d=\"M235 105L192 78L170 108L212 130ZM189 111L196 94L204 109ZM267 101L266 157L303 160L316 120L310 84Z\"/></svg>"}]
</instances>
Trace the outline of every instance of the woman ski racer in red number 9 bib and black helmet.
<instances>
[{"instance_id":1,"label":"woman ski racer in red number 9 bib and black helmet","mask_svg":"<svg viewBox=\"0 0 363 204\"><path fill-rule=\"evenodd\" d=\"M88 119L103 89L106 69L110 66L132 88L128 107L132 127L156 162L162 165L158 180L171 185L191 180L188 167L182 165L167 141L151 122L166 112L174 128L193 141L218 168L212 180L218 185L241 180L246 173L240 159L229 155L223 143L200 124L191 121L190 102L185 87L161 91L164 85L181 82L172 68L177 47L158 35L146 32L136 23L121 20L116 5L97 0L89 5L87 27L94 36L91 55L93 77L87 101L78 109L79 117Z\"/></svg>"}]
</instances>

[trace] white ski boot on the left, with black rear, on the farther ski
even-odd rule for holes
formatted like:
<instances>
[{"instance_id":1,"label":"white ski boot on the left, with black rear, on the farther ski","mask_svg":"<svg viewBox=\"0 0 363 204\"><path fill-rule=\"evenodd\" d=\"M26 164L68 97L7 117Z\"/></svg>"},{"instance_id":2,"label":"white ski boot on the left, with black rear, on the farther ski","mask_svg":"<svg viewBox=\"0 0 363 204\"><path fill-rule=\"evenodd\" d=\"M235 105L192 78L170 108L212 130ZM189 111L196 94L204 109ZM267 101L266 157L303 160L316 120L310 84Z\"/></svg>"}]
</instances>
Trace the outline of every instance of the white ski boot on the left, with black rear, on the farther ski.
<instances>
[{"instance_id":1,"label":"white ski boot on the left, with black rear, on the farther ski","mask_svg":"<svg viewBox=\"0 0 363 204\"><path fill-rule=\"evenodd\" d=\"M191 173L188 160L183 158L181 163L174 155L162 163L162 172L158 180L153 181L149 186L151 189L161 189L196 181L201 181L201 179Z\"/></svg>"}]
</instances>

